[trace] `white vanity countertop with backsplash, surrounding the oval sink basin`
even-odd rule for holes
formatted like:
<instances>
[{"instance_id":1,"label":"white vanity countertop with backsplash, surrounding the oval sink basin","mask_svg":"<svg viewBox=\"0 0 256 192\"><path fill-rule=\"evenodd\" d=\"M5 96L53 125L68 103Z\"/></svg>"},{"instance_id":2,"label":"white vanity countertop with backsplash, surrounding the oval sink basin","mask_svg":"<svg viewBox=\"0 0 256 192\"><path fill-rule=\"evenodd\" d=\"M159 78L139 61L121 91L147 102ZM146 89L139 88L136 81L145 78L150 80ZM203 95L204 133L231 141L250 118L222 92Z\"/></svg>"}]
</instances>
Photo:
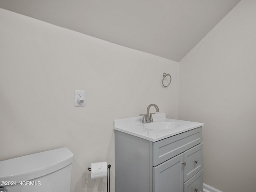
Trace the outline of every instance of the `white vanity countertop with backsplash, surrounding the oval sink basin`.
<instances>
[{"instance_id":1,"label":"white vanity countertop with backsplash, surrounding the oval sink basin","mask_svg":"<svg viewBox=\"0 0 256 192\"><path fill-rule=\"evenodd\" d=\"M176 122L181 126L168 130L150 130L142 124L142 116L114 120L114 130L156 142L182 132L203 126L203 123L166 118L166 114L154 114L154 122Z\"/></svg>"}]
</instances>

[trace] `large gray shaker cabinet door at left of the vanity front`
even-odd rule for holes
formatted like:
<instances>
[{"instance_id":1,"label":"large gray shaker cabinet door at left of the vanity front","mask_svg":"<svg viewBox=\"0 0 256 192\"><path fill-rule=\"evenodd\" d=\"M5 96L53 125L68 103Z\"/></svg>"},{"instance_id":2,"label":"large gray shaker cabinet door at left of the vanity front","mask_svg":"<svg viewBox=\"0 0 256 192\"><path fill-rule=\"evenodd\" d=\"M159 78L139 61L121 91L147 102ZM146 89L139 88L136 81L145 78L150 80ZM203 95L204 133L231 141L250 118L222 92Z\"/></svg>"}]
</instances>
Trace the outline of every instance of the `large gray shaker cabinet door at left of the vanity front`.
<instances>
[{"instance_id":1,"label":"large gray shaker cabinet door at left of the vanity front","mask_svg":"<svg viewBox=\"0 0 256 192\"><path fill-rule=\"evenodd\" d=\"M153 192L183 192L184 154L153 168Z\"/></svg>"}]
</instances>

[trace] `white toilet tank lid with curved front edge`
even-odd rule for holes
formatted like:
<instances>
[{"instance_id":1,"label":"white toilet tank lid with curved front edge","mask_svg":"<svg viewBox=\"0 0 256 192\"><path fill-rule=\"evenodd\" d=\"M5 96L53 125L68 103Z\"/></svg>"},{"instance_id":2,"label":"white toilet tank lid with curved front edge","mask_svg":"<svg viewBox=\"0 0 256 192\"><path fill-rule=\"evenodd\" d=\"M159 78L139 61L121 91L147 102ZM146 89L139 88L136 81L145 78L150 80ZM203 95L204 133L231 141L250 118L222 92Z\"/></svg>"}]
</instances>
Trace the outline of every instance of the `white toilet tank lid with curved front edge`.
<instances>
[{"instance_id":1,"label":"white toilet tank lid with curved front edge","mask_svg":"<svg viewBox=\"0 0 256 192\"><path fill-rule=\"evenodd\" d=\"M0 181L28 181L60 170L73 162L68 148L58 148L0 161Z\"/></svg>"}]
</instances>

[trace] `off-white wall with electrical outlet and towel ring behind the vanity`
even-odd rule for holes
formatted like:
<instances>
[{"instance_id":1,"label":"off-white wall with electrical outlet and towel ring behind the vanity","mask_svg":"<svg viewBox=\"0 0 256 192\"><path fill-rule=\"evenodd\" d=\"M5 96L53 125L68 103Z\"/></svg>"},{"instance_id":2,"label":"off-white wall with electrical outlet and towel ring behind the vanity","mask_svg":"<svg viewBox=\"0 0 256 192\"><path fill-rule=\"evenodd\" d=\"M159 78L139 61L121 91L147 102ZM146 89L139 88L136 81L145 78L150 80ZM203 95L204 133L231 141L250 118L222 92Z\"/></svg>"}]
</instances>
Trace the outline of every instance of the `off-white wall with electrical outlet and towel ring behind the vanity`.
<instances>
[{"instance_id":1,"label":"off-white wall with electrical outlet and towel ring behind the vanity","mask_svg":"<svg viewBox=\"0 0 256 192\"><path fill-rule=\"evenodd\" d=\"M114 192L113 120L151 103L178 118L178 63L2 9L0 26L0 160L67 147L72 191L106 191L87 168L107 161ZM74 90L86 107L74 107Z\"/></svg>"}]
</instances>

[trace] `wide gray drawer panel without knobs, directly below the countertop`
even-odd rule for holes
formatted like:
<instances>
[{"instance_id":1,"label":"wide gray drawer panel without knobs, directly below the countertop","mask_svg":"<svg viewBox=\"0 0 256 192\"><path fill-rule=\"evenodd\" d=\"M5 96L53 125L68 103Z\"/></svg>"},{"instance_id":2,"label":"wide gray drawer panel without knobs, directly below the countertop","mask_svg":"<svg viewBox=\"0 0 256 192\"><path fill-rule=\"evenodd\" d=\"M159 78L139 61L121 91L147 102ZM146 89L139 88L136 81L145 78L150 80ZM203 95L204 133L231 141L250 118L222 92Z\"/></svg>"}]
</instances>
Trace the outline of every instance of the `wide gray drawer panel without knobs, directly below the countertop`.
<instances>
[{"instance_id":1,"label":"wide gray drawer panel without knobs, directly below the countertop","mask_svg":"<svg viewBox=\"0 0 256 192\"><path fill-rule=\"evenodd\" d=\"M153 142L153 166L157 166L201 142L202 127Z\"/></svg>"}]
</instances>

